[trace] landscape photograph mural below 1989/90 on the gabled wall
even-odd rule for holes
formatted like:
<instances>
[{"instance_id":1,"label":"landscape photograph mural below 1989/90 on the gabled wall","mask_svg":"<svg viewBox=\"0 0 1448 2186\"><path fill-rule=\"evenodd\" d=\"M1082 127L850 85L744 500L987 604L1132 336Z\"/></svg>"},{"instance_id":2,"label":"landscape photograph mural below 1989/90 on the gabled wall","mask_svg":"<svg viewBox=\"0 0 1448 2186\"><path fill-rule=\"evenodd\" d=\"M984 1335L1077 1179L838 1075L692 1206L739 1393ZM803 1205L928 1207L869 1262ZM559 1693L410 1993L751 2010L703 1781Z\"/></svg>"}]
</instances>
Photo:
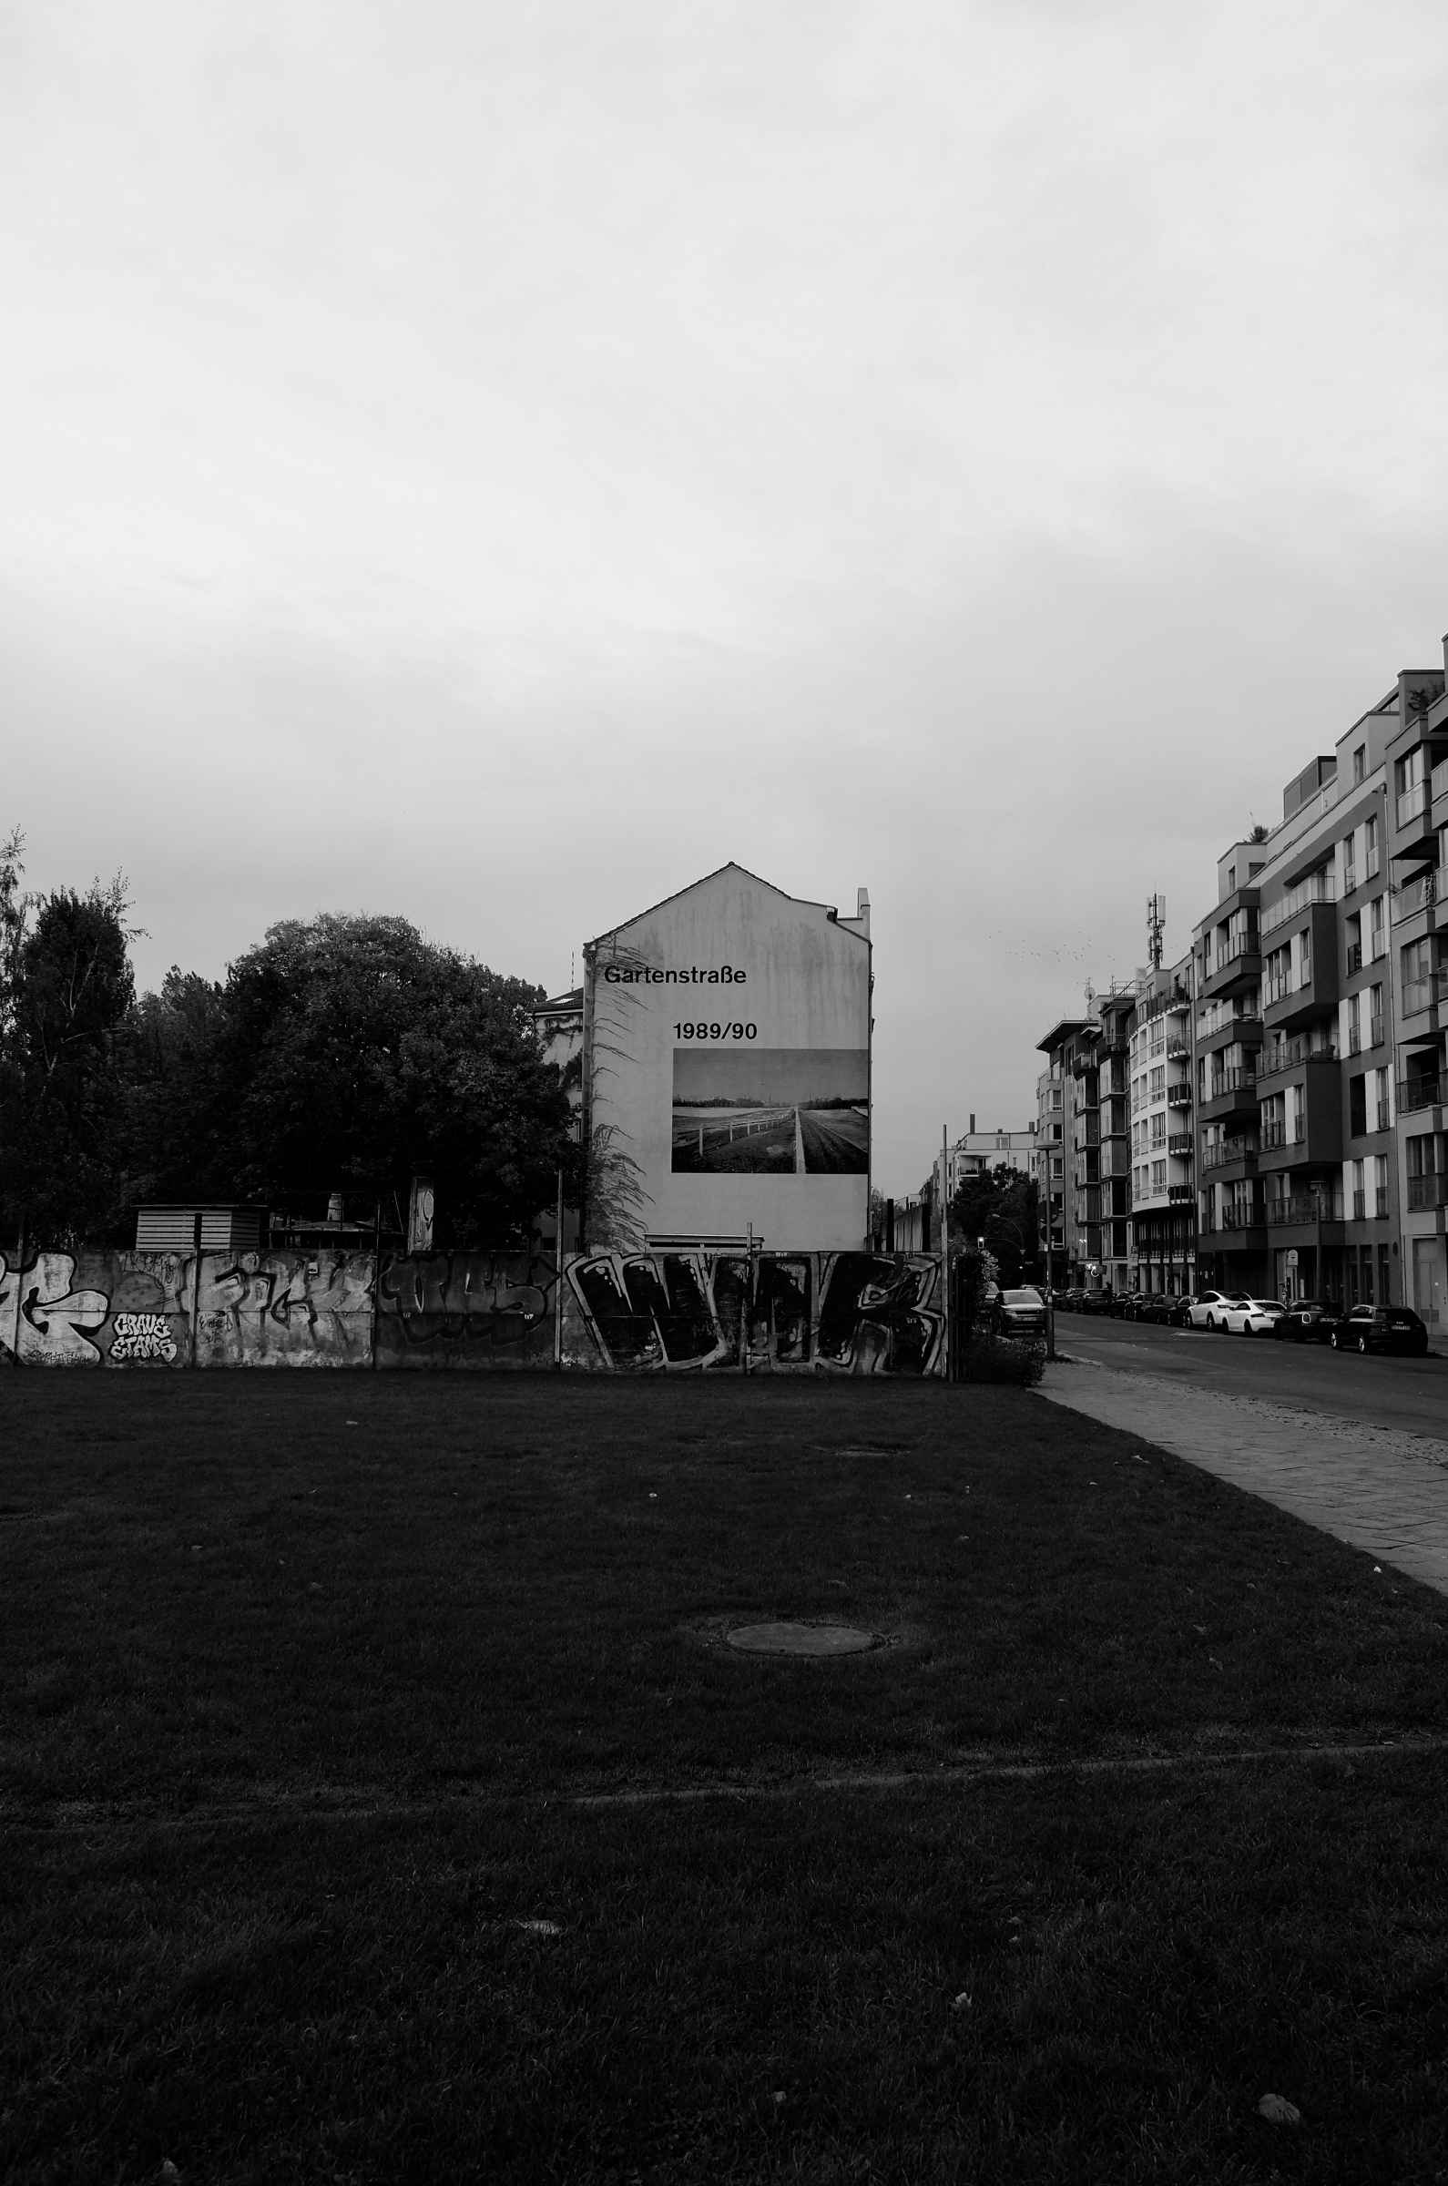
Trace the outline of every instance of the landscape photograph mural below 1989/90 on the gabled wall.
<instances>
[{"instance_id":1,"label":"landscape photograph mural below 1989/90 on the gabled wall","mask_svg":"<svg viewBox=\"0 0 1448 2186\"><path fill-rule=\"evenodd\" d=\"M864 1176L864 1047L676 1047L676 1176Z\"/></svg>"}]
</instances>

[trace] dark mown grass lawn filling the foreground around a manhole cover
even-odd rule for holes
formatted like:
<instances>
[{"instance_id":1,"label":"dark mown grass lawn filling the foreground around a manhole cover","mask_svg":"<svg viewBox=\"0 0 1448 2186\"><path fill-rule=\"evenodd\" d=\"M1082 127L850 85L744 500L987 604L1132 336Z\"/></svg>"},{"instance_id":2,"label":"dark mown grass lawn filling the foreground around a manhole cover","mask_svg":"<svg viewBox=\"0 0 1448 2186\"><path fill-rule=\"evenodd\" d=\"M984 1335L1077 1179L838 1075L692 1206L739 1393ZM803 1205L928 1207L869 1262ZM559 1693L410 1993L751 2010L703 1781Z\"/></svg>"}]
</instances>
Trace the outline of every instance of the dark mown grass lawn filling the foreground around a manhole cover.
<instances>
[{"instance_id":1,"label":"dark mown grass lawn filling the foreground around a manhole cover","mask_svg":"<svg viewBox=\"0 0 1448 2186\"><path fill-rule=\"evenodd\" d=\"M932 1384L0 1449L7 2182L1448 2179L1448 1602L1269 1506Z\"/></svg>"}]
</instances>

